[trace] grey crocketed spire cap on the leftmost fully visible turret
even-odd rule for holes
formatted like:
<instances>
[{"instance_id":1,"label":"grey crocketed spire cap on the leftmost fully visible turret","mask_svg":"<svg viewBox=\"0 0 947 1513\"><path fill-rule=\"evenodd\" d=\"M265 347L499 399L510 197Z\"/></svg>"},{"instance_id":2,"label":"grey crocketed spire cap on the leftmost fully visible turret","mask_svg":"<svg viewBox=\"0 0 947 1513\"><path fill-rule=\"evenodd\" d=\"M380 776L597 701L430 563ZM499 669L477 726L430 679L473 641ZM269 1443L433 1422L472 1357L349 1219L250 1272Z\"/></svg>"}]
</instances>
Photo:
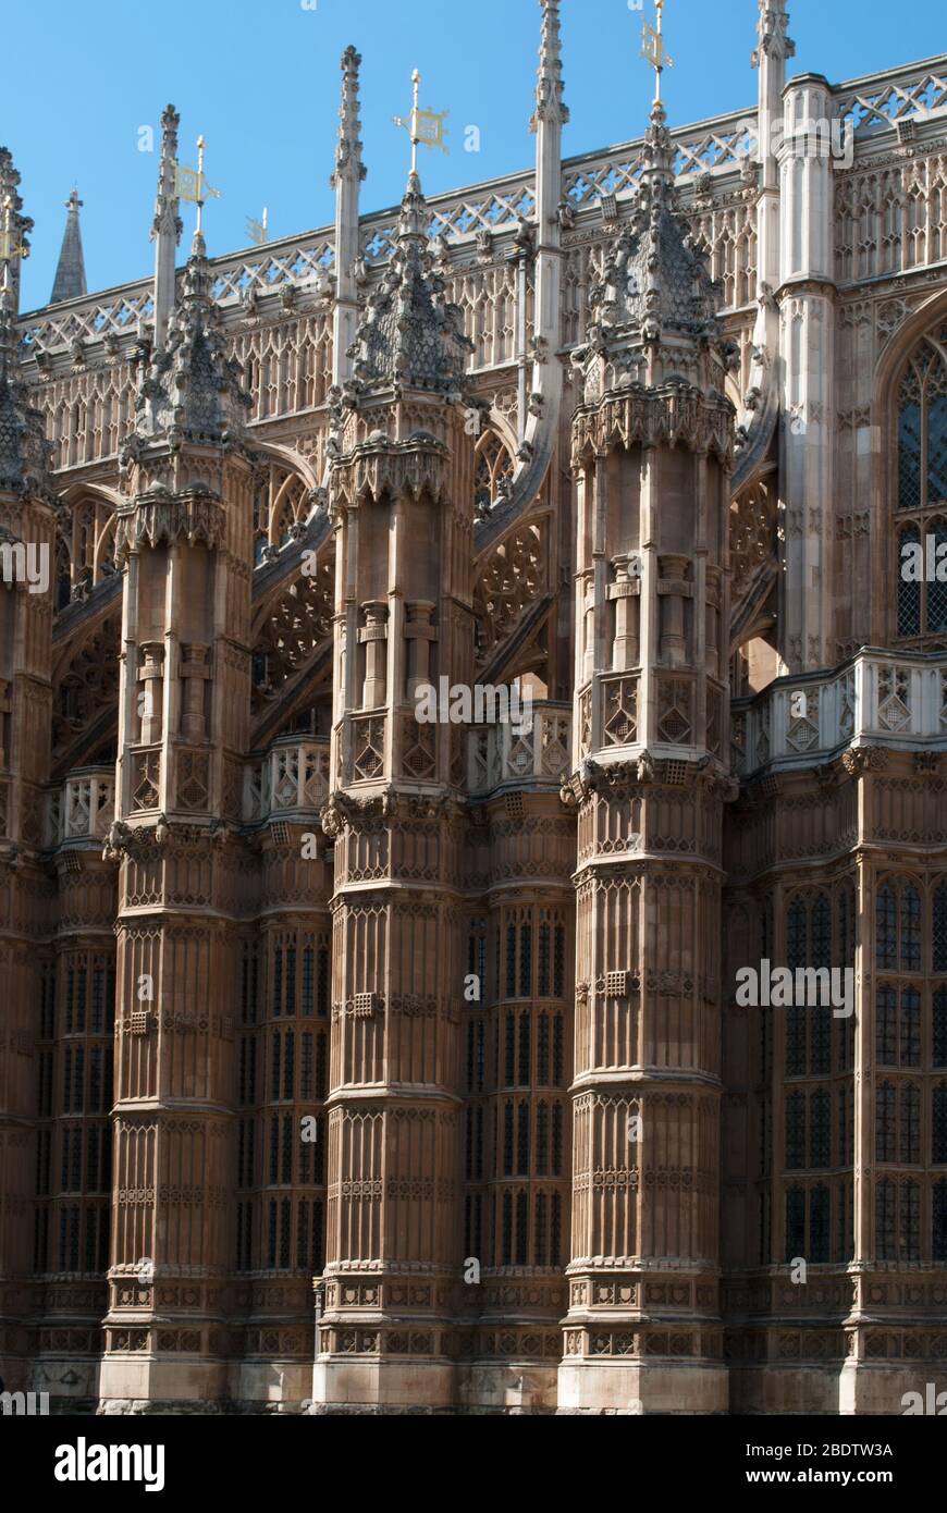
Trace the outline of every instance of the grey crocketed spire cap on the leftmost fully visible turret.
<instances>
[{"instance_id":1,"label":"grey crocketed spire cap on the leftmost fully visible turret","mask_svg":"<svg viewBox=\"0 0 947 1513\"><path fill-rule=\"evenodd\" d=\"M162 439L180 445L242 436L251 399L241 387L241 365L227 357L210 286L204 238L195 231L168 339L163 350L148 356L139 381L133 446Z\"/></svg>"}]
</instances>

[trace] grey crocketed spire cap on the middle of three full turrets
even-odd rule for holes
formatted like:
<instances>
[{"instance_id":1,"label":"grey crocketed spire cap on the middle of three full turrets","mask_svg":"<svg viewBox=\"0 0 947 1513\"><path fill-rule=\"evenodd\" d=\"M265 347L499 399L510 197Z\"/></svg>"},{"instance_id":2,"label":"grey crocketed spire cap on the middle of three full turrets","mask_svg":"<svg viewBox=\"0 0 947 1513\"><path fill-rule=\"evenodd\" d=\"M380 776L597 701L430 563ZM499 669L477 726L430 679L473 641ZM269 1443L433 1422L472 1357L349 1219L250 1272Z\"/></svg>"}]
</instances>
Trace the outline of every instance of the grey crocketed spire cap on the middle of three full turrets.
<instances>
[{"instance_id":1,"label":"grey crocketed spire cap on the middle of three full turrets","mask_svg":"<svg viewBox=\"0 0 947 1513\"><path fill-rule=\"evenodd\" d=\"M443 300L445 280L434 271L428 224L421 179L411 172L392 260L349 348L356 359L356 402L390 389L422 389L443 398L463 389L466 354L474 343L463 333L460 307Z\"/></svg>"}]
</instances>

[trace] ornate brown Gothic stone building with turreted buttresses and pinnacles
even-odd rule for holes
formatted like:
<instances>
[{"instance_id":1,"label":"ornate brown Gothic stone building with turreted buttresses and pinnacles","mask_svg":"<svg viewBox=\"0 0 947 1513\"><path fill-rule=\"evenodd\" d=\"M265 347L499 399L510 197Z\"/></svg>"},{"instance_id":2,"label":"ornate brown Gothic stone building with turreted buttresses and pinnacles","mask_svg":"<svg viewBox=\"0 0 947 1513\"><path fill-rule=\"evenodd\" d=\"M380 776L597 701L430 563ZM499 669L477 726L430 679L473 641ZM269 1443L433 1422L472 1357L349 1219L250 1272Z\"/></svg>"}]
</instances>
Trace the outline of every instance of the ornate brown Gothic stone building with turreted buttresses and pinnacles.
<instances>
[{"instance_id":1,"label":"ornate brown Gothic stone building with turreted buttresses and pinnacles","mask_svg":"<svg viewBox=\"0 0 947 1513\"><path fill-rule=\"evenodd\" d=\"M393 215L349 50L334 227L175 268L168 107L153 280L23 315L9 265L8 1389L942 1380L947 59L788 77L787 27L753 109L563 160L542 0L536 165ZM440 678L531 729L419 723ZM855 1012L740 1003L764 961Z\"/></svg>"}]
</instances>

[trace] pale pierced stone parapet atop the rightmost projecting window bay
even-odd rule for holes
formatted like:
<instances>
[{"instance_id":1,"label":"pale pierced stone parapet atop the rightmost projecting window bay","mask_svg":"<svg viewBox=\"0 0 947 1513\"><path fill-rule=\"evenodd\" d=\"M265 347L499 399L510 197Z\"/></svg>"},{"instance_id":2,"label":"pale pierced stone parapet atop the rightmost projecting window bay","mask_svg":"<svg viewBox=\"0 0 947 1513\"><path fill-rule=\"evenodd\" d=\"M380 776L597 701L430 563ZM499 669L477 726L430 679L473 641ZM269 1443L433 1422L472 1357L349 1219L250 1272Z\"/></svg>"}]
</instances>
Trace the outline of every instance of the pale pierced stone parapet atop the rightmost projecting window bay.
<instances>
[{"instance_id":1,"label":"pale pierced stone parapet atop the rightmost projecting window bay","mask_svg":"<svg viewBox=\"0 0 947 1513\"><path fill-rule=\"evenodd\" d=\"M849 746L947 749L947 654L867 648L731 705L734 773L811 767Z\"/></svg>"}]
</instances>

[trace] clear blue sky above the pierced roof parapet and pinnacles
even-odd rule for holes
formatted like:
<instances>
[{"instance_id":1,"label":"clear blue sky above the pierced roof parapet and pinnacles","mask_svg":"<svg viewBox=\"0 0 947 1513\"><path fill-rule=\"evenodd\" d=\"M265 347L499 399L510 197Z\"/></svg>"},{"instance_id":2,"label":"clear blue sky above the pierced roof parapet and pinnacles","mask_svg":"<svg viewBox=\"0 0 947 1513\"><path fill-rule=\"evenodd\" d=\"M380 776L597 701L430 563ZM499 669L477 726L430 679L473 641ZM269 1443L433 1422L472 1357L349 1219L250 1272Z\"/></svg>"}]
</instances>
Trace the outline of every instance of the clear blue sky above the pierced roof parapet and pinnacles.
<instances>
[{"instance_id":1,"label":"clear blue sky above the pierced roof parapet and pinnacles","mask_svg":"<svg viewBox=\"0 0 947 1513\"><path fill-rule=\"evenodd\" d=\"M644 0L644 14L652 12ZM749 54L756 0L667 0L666 77L672 126L755 98ZM832 82L947 48L944 0L796 0L791 73ZM628 0L564 0L566 156L641 132L650 98L638 56L643 12ZM654 15L650 17L654 18ZM392 115L421 103L448 109L449 156L422 150L428 194L529 163L540 8L537 0L44 0L8 9L0 142L23 174L33 216L23 307L48 300L64 203L76 182L91 289L151 269L148 228L157 153L139 127L171 100L182 113L182 160L207 138L207 177L222 191L206 212L210 254L247 245L247 216L269 209L271 238L333 218L328 176L339 107L339 56L363 56L362 121L369 177L363 210L398 201L408 142ZM464 151L464 127L480 151ZM194 207L185 207L185 244Z\"/></svg>"}]
</instances>

